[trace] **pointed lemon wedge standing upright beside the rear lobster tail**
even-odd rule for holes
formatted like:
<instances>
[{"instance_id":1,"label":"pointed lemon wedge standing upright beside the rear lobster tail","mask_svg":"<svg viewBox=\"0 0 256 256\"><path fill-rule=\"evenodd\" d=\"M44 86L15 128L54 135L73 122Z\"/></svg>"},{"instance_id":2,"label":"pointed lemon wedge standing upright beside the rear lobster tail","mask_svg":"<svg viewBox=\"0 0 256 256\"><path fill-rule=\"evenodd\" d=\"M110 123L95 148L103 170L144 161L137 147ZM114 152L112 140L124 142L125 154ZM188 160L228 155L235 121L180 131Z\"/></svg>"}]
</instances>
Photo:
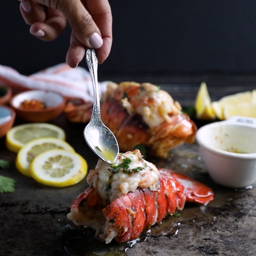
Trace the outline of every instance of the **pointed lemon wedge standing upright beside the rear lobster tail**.
<instances>
[{"instance_id":1,"label":"pointed lemon wedge standing upright beside the rear lobster tail","mask_svg":"<svg viewBox=\"0 0 256 256\"><path fill-rule=\"evenodd\" d=\"M196 117L198 119L215 119L211 99L205 82L202 82L195 100Z\"/></svg>"}]
</instances>

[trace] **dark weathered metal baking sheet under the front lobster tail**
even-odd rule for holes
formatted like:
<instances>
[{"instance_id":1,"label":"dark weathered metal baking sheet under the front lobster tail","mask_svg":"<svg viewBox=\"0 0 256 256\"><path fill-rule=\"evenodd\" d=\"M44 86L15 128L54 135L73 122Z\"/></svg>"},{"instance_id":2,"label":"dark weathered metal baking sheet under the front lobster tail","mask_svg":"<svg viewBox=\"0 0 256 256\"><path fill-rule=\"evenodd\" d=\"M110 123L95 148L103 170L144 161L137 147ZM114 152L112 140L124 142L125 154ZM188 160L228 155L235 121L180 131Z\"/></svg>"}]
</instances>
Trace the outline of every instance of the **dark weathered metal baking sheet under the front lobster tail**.
<instances>
[{"instance_id":1,"label":"dark weathered metal baking sheet under the front lobster tail","mask_svg":"<svg viewBox=\"0 0 256 256\"><path fill-rule=\"evenodd\" d=\"M21 124L22 121L16 121ZM53 124L63 127L67 142L93 169L97 157L83 140L84 124L72 124L65 116ZM86 180L68 188L50 188L20 174L16 154L0 140L0 159L11 161L11 169L0 175L16 180L14 193L0 194L0 248L2 256L51 255L232 255L256 252L256 189L228 189L214 184L200 158L196 143L184 144L166 160L147 159L203 182L214 190L208 205L186 204L180 216L167 216L151 232L132 243L105 245L91 229L76 227L66 215L72 201L87 188Z\"/></svg>"}]
</instances>

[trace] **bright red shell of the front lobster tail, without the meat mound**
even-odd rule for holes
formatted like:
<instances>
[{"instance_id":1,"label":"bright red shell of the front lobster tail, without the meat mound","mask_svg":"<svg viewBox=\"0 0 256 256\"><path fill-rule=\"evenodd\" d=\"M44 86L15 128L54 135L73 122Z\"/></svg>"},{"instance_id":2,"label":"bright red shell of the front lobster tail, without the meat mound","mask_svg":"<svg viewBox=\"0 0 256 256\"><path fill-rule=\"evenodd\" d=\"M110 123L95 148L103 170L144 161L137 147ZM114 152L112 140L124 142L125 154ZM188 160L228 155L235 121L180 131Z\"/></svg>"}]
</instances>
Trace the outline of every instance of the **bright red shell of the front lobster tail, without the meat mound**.
<instances>
[{"instance_id":1,"label":"bright red shell of the front lobster tail, without the meat mound","mask_svg":"<svg viewBox=\"0 0 256 256\"><path fill-rule=\"evenodd\" d=\"M160 169L157 190L137 188L104 205L93 186L73 201L68 218L77 225L96 229L106 243L112 239L127 242L168 214L184 208L185 201L206 204L213 200L213 191L188 176ZM102 228L105 227L105 228Z\"/></svg>"}]
</instances>

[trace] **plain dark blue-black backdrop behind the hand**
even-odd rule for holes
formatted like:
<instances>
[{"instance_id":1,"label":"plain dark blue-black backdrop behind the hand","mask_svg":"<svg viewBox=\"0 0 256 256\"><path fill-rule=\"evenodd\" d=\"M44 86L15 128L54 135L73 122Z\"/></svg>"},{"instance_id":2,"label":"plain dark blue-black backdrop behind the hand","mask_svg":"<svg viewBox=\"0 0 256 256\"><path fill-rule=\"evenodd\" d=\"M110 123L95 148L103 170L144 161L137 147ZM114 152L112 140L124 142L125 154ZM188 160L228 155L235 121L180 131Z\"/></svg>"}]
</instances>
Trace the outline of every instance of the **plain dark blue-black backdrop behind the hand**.
<instances>
[{"instance_id":1,"label":"plain dark blue-black backdrop behind the hand","mask_svg":"<svg viewBox=\"0 0 256 256\"><path fill-rule=\"evenodd\" d=\"M110 0L114 42L101 75L255 73L253 0ZM65 62L70 28L53 42L29 34L17 0L0 3L0 64L28 75ZM83 61L81 66L86 67Z\"/></svg>"}]
</instances>

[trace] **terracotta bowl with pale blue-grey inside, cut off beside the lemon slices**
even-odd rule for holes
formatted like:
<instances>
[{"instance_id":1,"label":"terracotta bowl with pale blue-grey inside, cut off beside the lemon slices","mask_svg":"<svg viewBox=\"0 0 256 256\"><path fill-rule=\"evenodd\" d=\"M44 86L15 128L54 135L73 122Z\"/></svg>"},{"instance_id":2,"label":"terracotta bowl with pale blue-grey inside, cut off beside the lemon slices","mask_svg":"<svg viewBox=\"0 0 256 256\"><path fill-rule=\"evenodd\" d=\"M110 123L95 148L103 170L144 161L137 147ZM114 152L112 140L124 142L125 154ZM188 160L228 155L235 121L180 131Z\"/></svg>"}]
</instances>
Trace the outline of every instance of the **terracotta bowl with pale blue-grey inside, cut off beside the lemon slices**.
<instances>
[{"instance_id":1,"label":"terracotta bowl with pale blue-grey inside, cut off beside the lemon slices","mask_svg":"<svg viewBox=\"0 0 256 256\"><path fill-rule=\"evenodd\" d=\"M6 106L0 106L0 138L6 135L7 131L13 126L15 112Z\"/></svg>"}]
</instances>

